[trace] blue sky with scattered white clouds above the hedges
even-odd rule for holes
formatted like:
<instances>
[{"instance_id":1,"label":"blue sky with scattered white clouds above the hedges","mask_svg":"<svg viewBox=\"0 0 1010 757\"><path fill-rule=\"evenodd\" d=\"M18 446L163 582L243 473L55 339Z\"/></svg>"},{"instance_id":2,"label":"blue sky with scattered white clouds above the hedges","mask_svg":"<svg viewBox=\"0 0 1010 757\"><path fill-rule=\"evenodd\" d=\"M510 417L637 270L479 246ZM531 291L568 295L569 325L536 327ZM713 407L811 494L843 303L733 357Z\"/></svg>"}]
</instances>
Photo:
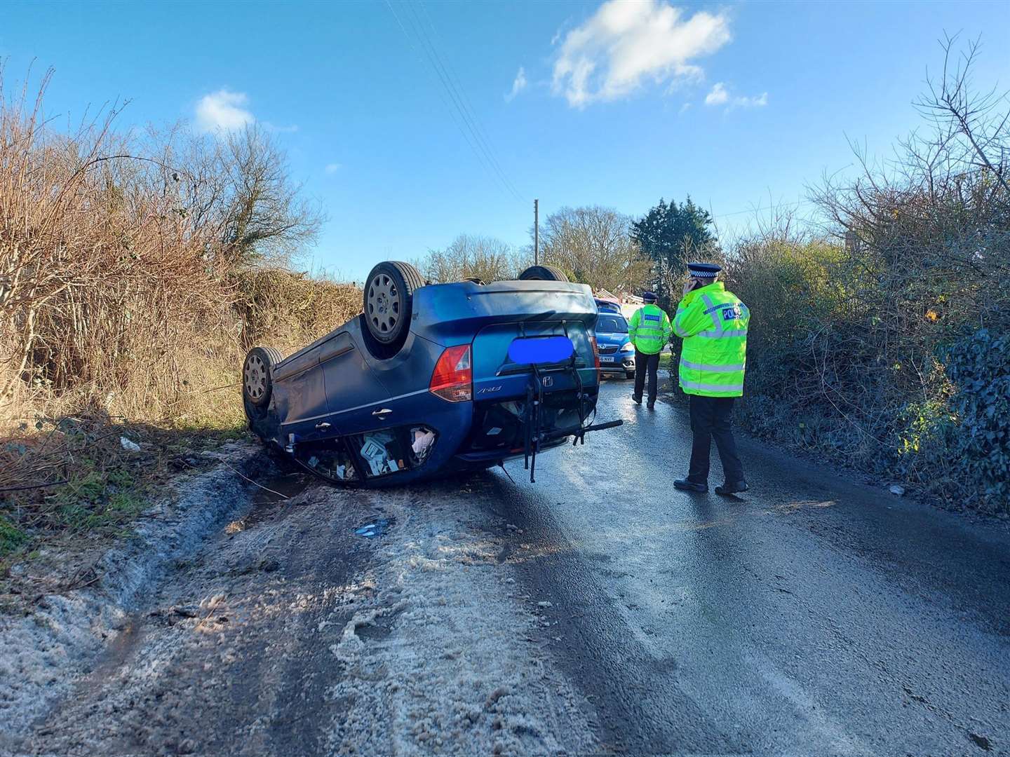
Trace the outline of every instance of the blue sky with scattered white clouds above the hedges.
<instances>
[{"instance_id":1,"label":"blue sky with scattered white clouds above the hedges","mask_svg":"<svg viewBox=\"0 0 1010 757\"><path fill-rule=\"evenodd\" d=\"M526 244L534 197L690 193L723 227L800 201L846 135L884 154L918 125L944 31L1010 86L1006 2L6 2L0 57L8 87L56 70L49 114L269 124L329 217L312 263L361 279L461 232Z\"/></svg>"}]
</instances>

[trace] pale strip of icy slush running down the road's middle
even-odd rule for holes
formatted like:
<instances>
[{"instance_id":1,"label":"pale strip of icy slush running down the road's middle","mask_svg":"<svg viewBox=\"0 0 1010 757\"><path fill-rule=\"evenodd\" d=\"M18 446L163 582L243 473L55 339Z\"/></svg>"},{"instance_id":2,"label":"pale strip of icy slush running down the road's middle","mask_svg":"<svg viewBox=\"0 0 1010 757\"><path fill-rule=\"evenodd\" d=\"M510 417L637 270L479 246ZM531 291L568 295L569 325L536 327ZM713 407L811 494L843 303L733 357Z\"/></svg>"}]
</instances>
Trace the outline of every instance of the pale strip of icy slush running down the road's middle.
<instances>
[{"instance_id":1,"label":"pale strip of icy slush running down the road's middle","mask_svg":"<svg viewBox=\"0 0 1010 757\"><path fill-rule=\"evenodd\" d=\"M498 561L502 538L478 525L465 494L446 488L425 498L423 518L412 515L415 498L384 495L384 510L402 525L378 548L377 592L331 647L346 675L329 695L348 710L324 751L595 751L580 697L549 653L525 641L535 617L503 601L495 580L510 570Z\"/></svg>"}]
</instances>

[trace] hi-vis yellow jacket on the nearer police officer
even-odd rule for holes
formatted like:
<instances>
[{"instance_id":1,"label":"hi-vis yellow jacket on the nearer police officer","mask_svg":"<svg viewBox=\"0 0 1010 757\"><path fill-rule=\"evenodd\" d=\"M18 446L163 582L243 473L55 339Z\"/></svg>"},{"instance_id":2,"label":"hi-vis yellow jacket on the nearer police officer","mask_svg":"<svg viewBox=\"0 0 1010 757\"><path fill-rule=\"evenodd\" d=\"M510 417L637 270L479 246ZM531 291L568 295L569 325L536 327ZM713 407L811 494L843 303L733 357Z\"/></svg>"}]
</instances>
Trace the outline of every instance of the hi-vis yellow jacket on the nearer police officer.
<instances>
[{"instance_id":1,"label":"hi-vis yellow jacket on the nearer police officer","mask_svg":"<svg viewBox=\"0 0 1010 757\"><path fill-rule=\"evenodd\" d=\"M674 333L684 339L681 389L689 395L740 397L750 311L722 282L689 292L677 306Z\"/></svg>"}]
</instances>

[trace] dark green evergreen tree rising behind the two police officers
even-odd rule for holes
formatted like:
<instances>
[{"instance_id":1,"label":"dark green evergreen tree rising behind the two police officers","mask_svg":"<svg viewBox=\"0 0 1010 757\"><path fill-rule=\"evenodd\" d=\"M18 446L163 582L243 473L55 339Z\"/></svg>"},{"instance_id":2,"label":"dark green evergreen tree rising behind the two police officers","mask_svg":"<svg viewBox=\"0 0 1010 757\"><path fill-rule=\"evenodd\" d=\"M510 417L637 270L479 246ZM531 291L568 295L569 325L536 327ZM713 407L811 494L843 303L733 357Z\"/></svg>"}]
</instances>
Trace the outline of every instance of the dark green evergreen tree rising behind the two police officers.
<instances>
[{"instance_id":1,"label":"dark green evergreen tree rising behind the two police officers","mask_svg":"<svg viewBox=\"0 0 1010 757\"><path fill-rule=\"evenodd\" d=\"M669 307L679 297L676 281L681 278L689 260L696 257L718 257L712 216L688 199L677 204L660 200L660 204L641 219L631 224L631 238L652 260L651 283L661 303Z\"/></svg>"}]
</instances>

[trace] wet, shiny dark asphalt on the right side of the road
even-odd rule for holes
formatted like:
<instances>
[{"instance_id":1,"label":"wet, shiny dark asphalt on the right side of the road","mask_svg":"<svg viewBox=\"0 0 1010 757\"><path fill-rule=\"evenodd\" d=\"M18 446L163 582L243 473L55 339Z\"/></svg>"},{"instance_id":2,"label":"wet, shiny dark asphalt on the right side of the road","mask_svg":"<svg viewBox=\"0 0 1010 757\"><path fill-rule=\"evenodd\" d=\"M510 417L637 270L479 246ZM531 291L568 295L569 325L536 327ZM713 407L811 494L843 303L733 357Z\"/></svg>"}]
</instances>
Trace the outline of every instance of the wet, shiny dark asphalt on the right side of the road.
<instances>
[{"instance_id":1,"label":"wet, shiny dark asphalt on the right side of the road","mask_svg":"<svg viewBox=\"0 0 1010 757\"><path fill-rule=\"evenodd\" d=\"M520 572L562 620L562 666L605 745L1010 750L1005 528L745 438L750 492L679 492L685 413L629 394L608 383L600 406L624 426L544 458L535 488L500 484L507 517L535 535Z\"/></svg>"}]
</instances>

